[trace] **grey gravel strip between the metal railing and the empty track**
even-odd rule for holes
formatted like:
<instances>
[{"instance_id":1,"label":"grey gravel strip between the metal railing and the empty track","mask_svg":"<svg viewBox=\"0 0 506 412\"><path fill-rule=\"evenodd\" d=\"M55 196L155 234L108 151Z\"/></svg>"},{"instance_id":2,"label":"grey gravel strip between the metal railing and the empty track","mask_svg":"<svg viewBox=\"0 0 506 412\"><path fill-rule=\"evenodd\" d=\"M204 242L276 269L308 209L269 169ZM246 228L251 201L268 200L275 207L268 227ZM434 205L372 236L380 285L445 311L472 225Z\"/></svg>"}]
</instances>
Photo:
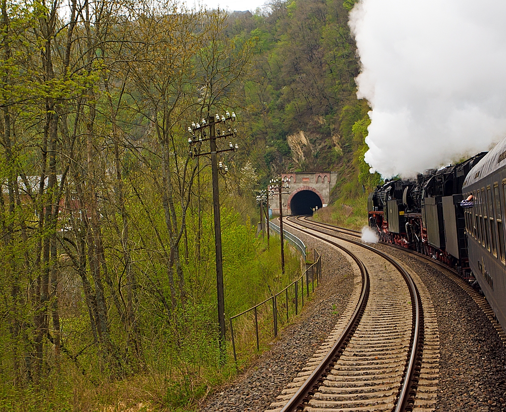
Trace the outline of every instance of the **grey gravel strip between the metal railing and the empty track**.
<instances>
[{"instance_id":1,"label":"grey gravel strip between the metal railing and the empty track","mask_svg":"<svg viewBox=\"0 0 506 412\"><path fill-rule=\"evenodd\" d=\"M335 249L296 230L308 251L322 255L322 283L303 313L283 331L254 365L231 385L201 402L202 411L263 411L297 376L343 313L353 288L348 260Z\"/></svg>"}]
</instances>

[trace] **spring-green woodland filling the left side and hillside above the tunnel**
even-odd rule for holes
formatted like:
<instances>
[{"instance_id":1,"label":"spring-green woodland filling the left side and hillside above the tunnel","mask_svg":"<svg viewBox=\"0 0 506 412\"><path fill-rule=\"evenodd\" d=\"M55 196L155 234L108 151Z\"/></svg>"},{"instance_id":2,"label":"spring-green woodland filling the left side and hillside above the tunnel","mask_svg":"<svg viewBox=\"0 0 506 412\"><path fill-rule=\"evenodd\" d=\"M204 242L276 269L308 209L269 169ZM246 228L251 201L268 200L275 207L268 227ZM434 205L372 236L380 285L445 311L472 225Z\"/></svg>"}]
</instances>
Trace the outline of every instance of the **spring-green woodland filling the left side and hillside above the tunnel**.
<instances>
[{"instance_id":1,"label":"spring-green woodland filling the left side and hillside above the tunnel","mask_svg":"<svg viewBox=\"0 0 506 412\"><path fill-rule=\"evenodd\" d=\"M192 120L244 108L244 149L225 154L220 181L227 316L300 274L289 248L281 274L279 242L267 248L251 224L258 181L341 170L333 196L355 225L361 185L377 179L363 161L352 2L291 0L235 20L148 3L131 8L135 25L109 3L75 25L57 3L5 4L0 410L175 410L235 373L218 362L212 187L206 158L188 156ZM301 130L305 161L288 144Z\"/></svg>"}]
</instances>

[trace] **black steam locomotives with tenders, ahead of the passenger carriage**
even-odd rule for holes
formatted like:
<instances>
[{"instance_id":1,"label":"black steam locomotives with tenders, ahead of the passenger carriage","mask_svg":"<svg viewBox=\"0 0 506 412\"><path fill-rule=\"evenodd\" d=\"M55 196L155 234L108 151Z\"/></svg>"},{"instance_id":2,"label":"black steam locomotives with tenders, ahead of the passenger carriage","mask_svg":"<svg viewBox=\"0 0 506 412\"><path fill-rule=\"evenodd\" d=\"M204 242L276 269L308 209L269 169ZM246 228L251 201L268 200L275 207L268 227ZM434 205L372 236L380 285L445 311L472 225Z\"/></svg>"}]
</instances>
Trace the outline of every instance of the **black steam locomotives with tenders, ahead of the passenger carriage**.
<instances>
[{"instance_id":1,"label":"black steam locomotives with tenders, ahead of the passenger carriage","mask_svg":"<svg viewBox=\"0 0 506 412\"><path fill-rule=\"evenodd\" d=\"M470 277L462 185L485 154L377 186L367 201L369 226L380 240L432 256Z\"/></svg>"}]
</instances>

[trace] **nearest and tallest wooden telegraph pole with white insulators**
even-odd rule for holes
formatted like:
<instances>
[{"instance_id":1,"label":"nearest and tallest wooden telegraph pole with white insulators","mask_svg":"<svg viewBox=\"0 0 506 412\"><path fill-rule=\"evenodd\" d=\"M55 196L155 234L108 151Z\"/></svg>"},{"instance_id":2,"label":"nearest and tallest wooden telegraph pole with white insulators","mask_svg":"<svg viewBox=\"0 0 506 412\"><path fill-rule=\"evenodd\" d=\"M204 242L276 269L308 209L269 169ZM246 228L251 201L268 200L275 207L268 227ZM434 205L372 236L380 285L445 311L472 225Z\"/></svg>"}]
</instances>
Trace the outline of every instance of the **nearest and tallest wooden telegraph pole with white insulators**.
<instances>
[{"instance_id":1,"label":"nearest and tallest wooden telegraph pole with white insulators","mask_svg":"<svg viewBox=\"0 0 506 412\"><path fill-rule=\"evenodd\" d=\"M198 156L210 155L211 158L211 171L213 177L213 211L215 217L215 246L216 246L216 284L218 292L218 323L220 325L220 363L223 363L226 355L225 346L225 298L223 293L223 257L222 257L222 240L221 240L221 222L220 222L220 187L218 183L218 171L222 174L227 173L228 168L220 161L218 164L216 155L221 152L234 151L236 152L239 145L229 142L228 148L218 150L216 147L216 139L224 137L236 137L237 130L227 127L227 121L235 121L235 113L232 114L227 111L225 115L208 116L207 119L203 118L200 123L192 122L191 127L188 127L188 146L190 150L190 157L196 158ZM217 127L223 128L217 129ZM208 152L202 152L202 143L209 141Z\"/></svg>"}]
</instances>

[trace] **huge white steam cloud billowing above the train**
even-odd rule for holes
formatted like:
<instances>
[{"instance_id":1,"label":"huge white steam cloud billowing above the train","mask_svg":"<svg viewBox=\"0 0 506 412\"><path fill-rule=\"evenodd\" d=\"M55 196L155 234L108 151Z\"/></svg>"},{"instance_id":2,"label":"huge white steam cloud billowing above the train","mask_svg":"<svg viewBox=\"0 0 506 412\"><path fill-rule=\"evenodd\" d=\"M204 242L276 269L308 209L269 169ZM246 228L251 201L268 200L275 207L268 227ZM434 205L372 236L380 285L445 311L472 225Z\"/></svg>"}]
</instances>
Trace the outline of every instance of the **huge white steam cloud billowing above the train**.
<instances>
[{"instance_id":1,"label":"huge white steam cloud billowing above the train","mask_svg":"<svg viewBox=\"0 0 506 412\"><path fill-rule=\"evenodd\" d=\"M365 160L384 177L454 162L506 135L506 2L361 0L350 14L371 104Z\"/></svg>"}]
</instances>

